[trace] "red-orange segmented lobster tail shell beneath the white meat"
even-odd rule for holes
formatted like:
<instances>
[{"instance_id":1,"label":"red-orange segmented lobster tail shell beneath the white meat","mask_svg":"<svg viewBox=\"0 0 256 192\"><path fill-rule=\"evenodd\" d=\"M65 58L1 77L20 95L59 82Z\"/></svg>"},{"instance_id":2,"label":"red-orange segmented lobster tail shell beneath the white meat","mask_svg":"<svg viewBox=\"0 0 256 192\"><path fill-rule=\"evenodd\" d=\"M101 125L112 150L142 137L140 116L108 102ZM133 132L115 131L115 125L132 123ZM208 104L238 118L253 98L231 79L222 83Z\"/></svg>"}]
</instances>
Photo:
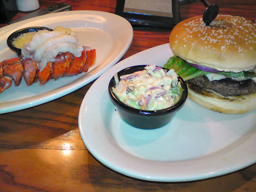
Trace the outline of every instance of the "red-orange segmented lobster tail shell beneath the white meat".
<instances>
[{"instance_id":1,"label":"red-orange segmented lobster tail shell beneath the white meat","mask_svg":"<svg viewBox=\"0 0 256 192\"><path fill-rule=\"evenodd\" d=\"M74 76L87 72L89 66L95 62L95 50L82 51L81 57L65 52L58 54L53 62L48 62L41 71L38 69L39 63L31 58L12 58L0 62L0 93L12 85L20 85L22 76L30 86L39 80L40 85L47 83L50 78L55 80L64 76Z\"/></svg>"}]
</instances>

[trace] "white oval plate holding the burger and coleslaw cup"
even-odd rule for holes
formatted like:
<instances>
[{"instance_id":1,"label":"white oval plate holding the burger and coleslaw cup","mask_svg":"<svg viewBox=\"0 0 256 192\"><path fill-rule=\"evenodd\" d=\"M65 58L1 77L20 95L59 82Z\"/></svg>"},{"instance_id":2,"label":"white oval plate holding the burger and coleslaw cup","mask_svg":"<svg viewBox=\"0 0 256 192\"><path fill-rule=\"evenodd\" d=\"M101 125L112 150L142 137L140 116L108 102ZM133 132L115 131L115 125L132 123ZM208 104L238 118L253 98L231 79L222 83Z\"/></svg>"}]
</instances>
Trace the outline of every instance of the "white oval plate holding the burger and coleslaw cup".
<instances>
[{"instance_id":1,"label":"white oval plate holding the burger and coleslaw cup","mask_svg":"<svg viewBox=\"0 0 256 192\"><path fill-rule=\"evenodd\" d=\"M256 111L220 114L189 99L155 130L126 124L108 97L113 75L133 65L163 66L169 44L132 55L102 74L86 93L78 125L90 153L111 169L149 181L191 181L234 172L256 162Z\"/></svg>"}]
</instances>

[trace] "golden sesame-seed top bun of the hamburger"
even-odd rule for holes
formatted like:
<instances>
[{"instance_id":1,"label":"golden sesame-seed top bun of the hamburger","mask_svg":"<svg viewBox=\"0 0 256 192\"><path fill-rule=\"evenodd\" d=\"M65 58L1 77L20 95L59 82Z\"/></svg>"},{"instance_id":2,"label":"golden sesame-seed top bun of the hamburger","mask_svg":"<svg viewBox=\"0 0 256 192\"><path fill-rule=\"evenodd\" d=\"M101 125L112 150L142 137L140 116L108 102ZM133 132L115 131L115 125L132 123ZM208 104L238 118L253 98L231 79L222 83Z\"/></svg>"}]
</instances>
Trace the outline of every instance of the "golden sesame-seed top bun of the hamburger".
<instances>
[{"instance_id":1,"label":"golden sesame-seed top bun of the hamburger","mask_svg":"<svg viewBox=\"0 0 256 192\"><path fill-rule=\"evenodd\" d=\"M218 15L206 26L202 15L189 18L173 28L170 46L190 63L220 71L250 70L256 66L256 23Z\"/></svg>"}]
</instances>

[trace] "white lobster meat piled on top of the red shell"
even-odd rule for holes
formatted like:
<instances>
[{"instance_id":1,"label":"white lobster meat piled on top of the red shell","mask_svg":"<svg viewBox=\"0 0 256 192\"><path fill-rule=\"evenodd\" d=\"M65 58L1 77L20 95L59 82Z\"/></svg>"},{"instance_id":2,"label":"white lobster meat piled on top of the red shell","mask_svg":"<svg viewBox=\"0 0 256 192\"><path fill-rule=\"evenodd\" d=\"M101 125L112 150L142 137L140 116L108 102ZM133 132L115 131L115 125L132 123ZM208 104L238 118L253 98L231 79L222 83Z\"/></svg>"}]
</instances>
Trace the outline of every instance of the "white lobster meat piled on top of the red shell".
<instances>
[{"instance_id":1,"label":"white lobster meat piled on top of the red shell","mask_svg":"<svg viewBox=\"0 0 256 192\"><path fill-rule=\"evenodd\" d=\"M61 52L70 52L80 57L83 47L79 45L74 31L68 28L56 27L53 31L39 30L21 49L25 58L33 58L39 63L39 70L46 67Z\"/></svg>"}]
</instances>

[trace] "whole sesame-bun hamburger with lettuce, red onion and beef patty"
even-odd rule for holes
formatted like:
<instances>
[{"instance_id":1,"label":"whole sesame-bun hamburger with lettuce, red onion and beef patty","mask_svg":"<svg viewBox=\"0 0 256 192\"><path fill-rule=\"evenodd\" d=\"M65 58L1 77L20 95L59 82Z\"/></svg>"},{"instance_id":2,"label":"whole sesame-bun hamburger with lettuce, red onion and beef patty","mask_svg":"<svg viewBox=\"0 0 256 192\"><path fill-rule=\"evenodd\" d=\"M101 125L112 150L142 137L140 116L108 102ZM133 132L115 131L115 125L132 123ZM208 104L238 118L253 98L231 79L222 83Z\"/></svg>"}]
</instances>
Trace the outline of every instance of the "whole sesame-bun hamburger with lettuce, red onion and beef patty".
<instances>
[{"instance_id":1,"label":"whole sesame-bun hamburger with lettuce, red onion and beef patty","mask_svg":"<svg viewBox=\"0 0 256 192\"><path fill-rule=\"evenodd\" d=\"M210 26L189 18L170 34L174 53L165 64L188 86L188 98L220 113L243 114L256 108L256 23L218 15Z\"/></svg>"}]
</instances>

